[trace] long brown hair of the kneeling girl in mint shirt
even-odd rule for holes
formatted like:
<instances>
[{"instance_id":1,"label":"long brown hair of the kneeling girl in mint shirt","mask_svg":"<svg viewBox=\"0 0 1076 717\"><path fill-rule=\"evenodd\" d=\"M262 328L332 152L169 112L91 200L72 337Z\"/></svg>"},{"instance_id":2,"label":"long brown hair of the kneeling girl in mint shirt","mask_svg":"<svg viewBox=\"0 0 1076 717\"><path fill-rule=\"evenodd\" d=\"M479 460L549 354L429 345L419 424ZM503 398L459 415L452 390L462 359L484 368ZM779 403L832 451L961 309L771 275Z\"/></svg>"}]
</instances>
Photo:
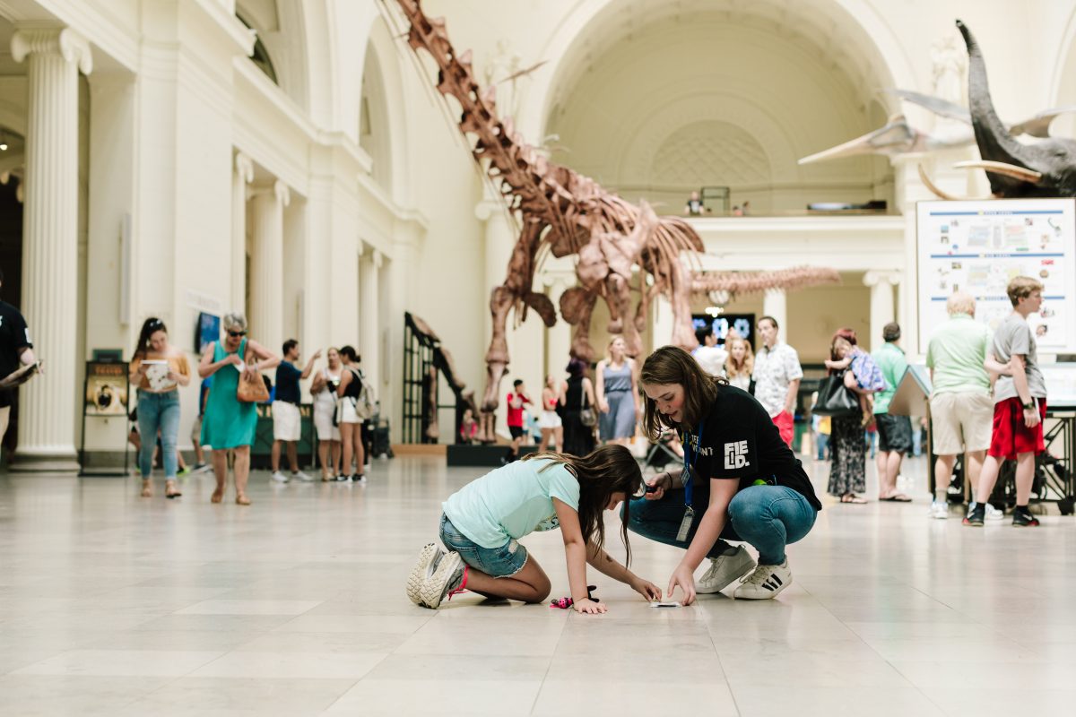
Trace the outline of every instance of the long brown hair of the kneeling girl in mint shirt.
<instances>
[{"instance_id":1,"label":"long brown hair of the kneeling girl in mint shirt","mask_svg":"<svg viewBox=\"0 0 1076 717\"><path fill-rule=\"evenodd\" d=\"M540 453L525 456L523 460L549 459L548 471L553 465L566 465L579 481L579 527L589 546L587 553L605 545L605 520L601 513L615 492L623 492L624 510L620 514L620 539L627 550L624 564L632 562L632 546L627 542L628 506L632 496L642 486L642 473L632 451L621 445L595 448L583 457L571 454Z\"/></svg>"}]
</instances>

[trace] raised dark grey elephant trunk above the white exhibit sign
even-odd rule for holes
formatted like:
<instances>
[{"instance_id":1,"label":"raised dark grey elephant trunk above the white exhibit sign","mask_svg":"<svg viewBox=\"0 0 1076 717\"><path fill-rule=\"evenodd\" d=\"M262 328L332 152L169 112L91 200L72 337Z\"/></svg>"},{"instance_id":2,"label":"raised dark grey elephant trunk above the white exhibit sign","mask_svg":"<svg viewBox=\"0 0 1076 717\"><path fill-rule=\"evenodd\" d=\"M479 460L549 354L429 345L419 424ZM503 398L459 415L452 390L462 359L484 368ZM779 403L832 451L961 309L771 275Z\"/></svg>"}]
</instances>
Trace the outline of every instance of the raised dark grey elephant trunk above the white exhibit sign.
<instances>
[{"instance_id":1,"label":"raised dark grey elephant trunk above the white exhibit sign","mask_svg":"<svg viewBox=\"0 0 1076 717\"><path fill-rule=\"evenodd\" d=\"M1005 162L1033 169L1027 159L1023 145L1017 142L1005 124L994 111L990 99L990 85L987 82L987 63L982 58L982 49L975 35L962 21L957 20L957 28L964 35L967 45L968 76L967 99L972 111L972 126L975 128L975 141L979 145L979 155L985 160ZM990 189L994 195L1006 195L1022 184L1019 180L995 173L988 173Z\"/></svg>"}]
</instances>

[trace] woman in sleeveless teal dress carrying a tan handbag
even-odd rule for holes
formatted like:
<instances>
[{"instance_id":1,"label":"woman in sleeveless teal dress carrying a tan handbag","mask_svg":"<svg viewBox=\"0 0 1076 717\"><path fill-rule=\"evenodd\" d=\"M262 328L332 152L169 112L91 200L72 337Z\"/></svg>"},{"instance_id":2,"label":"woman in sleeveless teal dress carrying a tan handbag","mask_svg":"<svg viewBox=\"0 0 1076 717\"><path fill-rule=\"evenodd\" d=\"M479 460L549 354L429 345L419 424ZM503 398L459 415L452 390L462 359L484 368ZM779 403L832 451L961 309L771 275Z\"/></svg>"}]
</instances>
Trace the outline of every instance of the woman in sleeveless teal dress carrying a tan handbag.
<instances>
[{"instance_id":1,"label":"woman in sleeveless teal dress carrying a tan handbag","mask_svg":"<svg viewBox=\"0 0 1076 717\"><path fill-rule=\"evenodd\" d=\"M224 331L224 341L214 341L207 346L198 364L199 376L214 376L206 401L201 442L213 448L216 490L212 501L220 503L224 499L228 451L231 450L236 454L236 503L250 505L246 478L251 473L251 445L254 443L258 413L255 404L236 398L236 390L240 375L246 376L255 368L259 371L271 369L280 363L280 357L246 338L246 317L242 314L225 314ZM257 363L249 364L251 358L257 359Z\"/></svg>"}]
</instances>

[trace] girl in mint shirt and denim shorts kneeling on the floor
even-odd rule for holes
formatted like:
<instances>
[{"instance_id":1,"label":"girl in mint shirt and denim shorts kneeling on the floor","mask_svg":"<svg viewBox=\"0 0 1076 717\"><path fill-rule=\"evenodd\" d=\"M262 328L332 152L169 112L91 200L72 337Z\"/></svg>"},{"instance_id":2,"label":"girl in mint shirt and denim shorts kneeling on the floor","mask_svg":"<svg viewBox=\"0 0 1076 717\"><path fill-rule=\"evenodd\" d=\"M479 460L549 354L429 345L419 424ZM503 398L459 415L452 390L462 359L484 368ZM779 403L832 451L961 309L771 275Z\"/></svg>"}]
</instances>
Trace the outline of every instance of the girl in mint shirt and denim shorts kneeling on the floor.
<instances>
[{"instance_id":1,"label":"girl in mint shirt and denim shorts kneeling on the floor","mask_svg":"<svg viewBox=\"0 0 1076 717\"><path fill-rule=\"evenodd\" d=\"M498 468L443 503L441 542L449 553L434 543L422 549L408 578L408 598L436 608L445 598L467 589L489 598L542 602L550 592L549 577L519 539L560 528L577 612L606 612L604 603L587 597L587 563L648 600L656 600L661 597L656 585L603 549L603 511L613 511L624 501L621 537L631 562L626 500L641 488L639 464L619 445L603 446L582 458L533 454Z\"/></svg>"}]
</instances>

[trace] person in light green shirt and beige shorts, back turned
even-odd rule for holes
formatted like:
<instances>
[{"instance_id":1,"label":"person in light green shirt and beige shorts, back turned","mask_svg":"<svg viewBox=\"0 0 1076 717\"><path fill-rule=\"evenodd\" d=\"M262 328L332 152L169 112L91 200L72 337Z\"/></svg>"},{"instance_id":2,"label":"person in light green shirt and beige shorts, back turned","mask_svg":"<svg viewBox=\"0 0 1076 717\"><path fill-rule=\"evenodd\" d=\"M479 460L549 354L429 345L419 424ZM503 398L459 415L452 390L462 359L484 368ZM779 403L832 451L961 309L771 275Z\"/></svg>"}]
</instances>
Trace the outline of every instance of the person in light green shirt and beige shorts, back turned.
<instances>
[{"instance_id":1,"label":"person in light green shirt and beige shorts, back turned","mask_svg":"<svg viewBox=\"0 0 1076 717\"><path fill-rule=\"evenodd\" d=\"M963 454L964 477L973 491L979 485L982 461L990 447L994 402L990 376L983 362L990 346L990 329L975 320L975 299L953 293L946 301L949 320L938 327L926 347L931 370L931 438L934 463L934 502L930 517L949 517L949 483L957 456ZM1002 512L989 506L997 518ZM992 518L990 510L987 517Z\"/></svg>"}]
</instances>

